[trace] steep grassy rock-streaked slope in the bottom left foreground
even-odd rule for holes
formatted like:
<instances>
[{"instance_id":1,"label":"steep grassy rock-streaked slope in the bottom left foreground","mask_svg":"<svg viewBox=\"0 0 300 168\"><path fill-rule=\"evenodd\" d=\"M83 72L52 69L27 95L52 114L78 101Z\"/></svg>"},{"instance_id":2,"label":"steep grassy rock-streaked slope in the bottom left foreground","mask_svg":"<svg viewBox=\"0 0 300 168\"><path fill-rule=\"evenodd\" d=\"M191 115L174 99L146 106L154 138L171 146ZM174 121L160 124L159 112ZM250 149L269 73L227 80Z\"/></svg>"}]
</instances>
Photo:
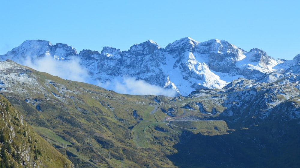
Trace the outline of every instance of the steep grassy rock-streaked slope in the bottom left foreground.
<instances>
[{"instance_id":1,"label":"steep grassy rock-streaked slope in the bottom left foreground","mask_svg":"<svg viewBox=\"0 0 300 168\"><path fill-rule=\"evenodd\" d=\"M0 146L4 167L73 167L38 135L22 115L0 95Z\"/></svg>"}]
</instances>

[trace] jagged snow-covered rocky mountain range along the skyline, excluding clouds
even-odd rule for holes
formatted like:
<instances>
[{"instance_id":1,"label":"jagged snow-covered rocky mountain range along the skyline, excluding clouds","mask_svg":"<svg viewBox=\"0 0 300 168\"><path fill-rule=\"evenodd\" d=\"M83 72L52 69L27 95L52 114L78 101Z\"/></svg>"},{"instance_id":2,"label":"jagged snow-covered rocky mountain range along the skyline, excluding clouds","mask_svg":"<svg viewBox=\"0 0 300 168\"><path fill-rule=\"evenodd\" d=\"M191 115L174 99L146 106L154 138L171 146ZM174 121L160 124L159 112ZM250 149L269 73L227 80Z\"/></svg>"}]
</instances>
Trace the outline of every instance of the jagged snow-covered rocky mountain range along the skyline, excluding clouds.
<instances>
[{"instance_id":1,"label":"jagged snow-covered rocky mountain range along the skyline, excluding clouds","mask_svg":"<svg viewBox=\"0 0 300 168\"><path fill-rule=\"evenodd\" d=\"M82 50L79 54L67 44L27 40L0 56L2 61L11 59L24 65L24 60L35 62L44 57L60 61L79 58L78 63L88 71L91 79L86 82L107 89L122 93L124 87L120 85L134 86L134 81L143 81L142 84L169 90L174 96L188 95L200 88L223 88L239 77L256 79L265 73L283 71L289 65L295 65L292 60L276 61L257 48L246 52L224 40L198 42L190 37L176 40L165 49L148 40L134 44L128 51L103 47L100 53ZM128 78L134 81L125 82Z\"/></svg>"}]
</instances>

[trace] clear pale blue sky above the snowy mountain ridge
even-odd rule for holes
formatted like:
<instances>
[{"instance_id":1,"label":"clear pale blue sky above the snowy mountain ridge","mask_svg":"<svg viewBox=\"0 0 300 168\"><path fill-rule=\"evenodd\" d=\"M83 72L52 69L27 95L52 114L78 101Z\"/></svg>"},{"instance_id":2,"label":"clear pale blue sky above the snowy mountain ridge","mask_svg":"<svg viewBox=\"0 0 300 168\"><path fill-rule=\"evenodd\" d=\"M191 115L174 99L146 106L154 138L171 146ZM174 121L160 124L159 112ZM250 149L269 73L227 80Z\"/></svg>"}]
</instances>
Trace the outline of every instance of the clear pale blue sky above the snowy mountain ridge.
<instances>
[{"instance_id":1,"label":"clear pale blue sky above the snowy mountain ridge","mask_svg":"<svg viewBox=\"0 0 300 168\"><path fill-rule=\"evenodd\" d=\"M148 39L161 47L183 37L223 39L273 58L300 53L300 2L285 1L1 1L0 54L28 39L101 51Z\"/></svg>"}]
</instances>

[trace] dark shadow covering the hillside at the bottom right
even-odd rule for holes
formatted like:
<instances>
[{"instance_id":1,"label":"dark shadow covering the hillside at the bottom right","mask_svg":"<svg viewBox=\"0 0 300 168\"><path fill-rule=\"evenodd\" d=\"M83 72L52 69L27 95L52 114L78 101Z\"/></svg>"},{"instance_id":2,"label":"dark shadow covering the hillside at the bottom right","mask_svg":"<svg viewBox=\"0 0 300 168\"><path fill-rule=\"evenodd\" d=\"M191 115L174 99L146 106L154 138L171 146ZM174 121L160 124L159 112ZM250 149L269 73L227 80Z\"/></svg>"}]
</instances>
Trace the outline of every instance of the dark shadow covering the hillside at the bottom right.
<instances>
[{"instance_id":1,"label":"dark shadow covering the hillside at the bottom right","mask_svg":"<svg viewBox=\"0 0 300 168\"><path fill-rule=\"evenodd\" d=\"M173 146L178 152L167 158L178 167L299 167L299 128L255 127L216 136L183 132Z\"/></svg>"}]
</instances>

